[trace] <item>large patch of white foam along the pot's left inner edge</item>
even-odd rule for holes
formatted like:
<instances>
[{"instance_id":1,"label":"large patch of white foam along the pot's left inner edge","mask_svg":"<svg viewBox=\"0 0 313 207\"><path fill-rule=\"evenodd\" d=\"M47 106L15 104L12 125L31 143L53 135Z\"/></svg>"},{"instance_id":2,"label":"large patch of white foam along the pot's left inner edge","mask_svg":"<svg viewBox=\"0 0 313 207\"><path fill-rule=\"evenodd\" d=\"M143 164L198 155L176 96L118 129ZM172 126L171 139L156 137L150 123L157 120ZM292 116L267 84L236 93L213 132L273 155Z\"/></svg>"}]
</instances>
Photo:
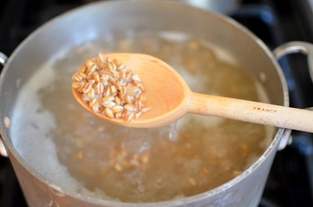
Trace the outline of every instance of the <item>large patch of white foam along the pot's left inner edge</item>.
<instances>
[{"instance_id":1,"label":"large patch of white foam along the pot's left inner edge","mask_svg":"<svg viewBox=\"0 0 313 207\"><path fill-rule=\"evenodd\" d=\"M99 189L90 191L72 177L59 162L55 144L49 133L56 128L54 115L44 110L38 92L50 86L56 71L47 63L21 89L12 116L10 136L18 153L39 173L62 187L95 198L113 199Z\"/></svg>"}]
</instances>

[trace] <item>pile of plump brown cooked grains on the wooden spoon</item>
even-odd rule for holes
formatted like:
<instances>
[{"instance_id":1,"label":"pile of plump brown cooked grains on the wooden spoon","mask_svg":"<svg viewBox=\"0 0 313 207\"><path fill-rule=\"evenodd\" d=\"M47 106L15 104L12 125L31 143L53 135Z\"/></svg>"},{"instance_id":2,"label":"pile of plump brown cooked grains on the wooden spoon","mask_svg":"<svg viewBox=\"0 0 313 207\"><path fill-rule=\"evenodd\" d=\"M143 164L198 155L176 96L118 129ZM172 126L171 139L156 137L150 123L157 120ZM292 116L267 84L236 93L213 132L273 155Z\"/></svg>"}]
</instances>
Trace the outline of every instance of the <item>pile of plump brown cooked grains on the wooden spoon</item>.
<instances>
[{"instance_id":1,"label":"pile of plump brown cooked grains on the wooden spoon","mask_svg":"<svg viewBox=\"0 0 313 207\"><path fill-rule=\"evenodd\" d=\"M95 113L109 118L138 118L150 108L143 108L146 97L140 77L117 59L105 58L102 53L85 64L72 77L72 87L82 93Z\"/></svg>"}]
</instances>

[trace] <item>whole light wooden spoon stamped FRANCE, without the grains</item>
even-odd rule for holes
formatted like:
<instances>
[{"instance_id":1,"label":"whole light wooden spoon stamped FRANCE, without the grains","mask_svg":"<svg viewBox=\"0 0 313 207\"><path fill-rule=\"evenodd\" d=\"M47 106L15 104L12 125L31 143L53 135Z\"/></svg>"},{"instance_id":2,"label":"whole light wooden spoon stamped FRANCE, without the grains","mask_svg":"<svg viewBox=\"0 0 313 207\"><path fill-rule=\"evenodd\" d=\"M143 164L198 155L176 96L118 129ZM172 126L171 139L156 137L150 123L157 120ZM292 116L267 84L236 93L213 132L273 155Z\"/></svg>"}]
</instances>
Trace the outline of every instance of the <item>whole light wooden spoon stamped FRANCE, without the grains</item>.
<instances>
[{"instance_id":1,"label":"whole light wooden spoon stamped FRANCE, without the grains","mask_svg":"<svg viewBox=\"0 0 313 207\"><path fill-rule=\"evenodd\" d=\"M101 113L94 113L88 103L82 101L81 93L72 88L80 105L106 121L127 127L161 127L189 112L313 132L313 111L193 93L177 71L158 58L136 53L110 53L105 56L118 59L141 77L146 88L145 107L151 107L131 122L110 119Z\"/></svg>"}]
</instances>

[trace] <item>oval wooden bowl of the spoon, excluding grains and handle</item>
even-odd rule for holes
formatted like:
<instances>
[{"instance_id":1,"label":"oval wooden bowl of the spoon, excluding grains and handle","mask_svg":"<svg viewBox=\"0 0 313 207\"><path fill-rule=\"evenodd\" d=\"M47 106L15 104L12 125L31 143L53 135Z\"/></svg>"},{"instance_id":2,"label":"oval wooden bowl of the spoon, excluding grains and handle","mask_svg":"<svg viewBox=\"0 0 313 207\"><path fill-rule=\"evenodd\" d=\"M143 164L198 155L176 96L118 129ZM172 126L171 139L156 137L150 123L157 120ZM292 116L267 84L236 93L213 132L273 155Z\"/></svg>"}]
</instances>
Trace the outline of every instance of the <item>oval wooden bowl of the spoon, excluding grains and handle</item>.
<instances>
[{"instance_id":1,"label":"oval wooden bowl of the spoon, excluding grains and handle","mask_svg":"<svg viewBox=\"0 0 313 207\"><path fill-rule=\"evenodd\" d=\"M151 110L142 113L138 119L125 122L125 119L110 119L101 113L95 113L88 103L85 103L80 92L72 88L74 97L89 113L106 121L127 127L160 127L171 124L186 114L190 88L183 78L170 65L162 60L146 54L109 53L106 58L118 59L129 69L141 77L146 88L145 106ZM161 84L160 84L161 83Z\"/></svg>"}]
</instances>

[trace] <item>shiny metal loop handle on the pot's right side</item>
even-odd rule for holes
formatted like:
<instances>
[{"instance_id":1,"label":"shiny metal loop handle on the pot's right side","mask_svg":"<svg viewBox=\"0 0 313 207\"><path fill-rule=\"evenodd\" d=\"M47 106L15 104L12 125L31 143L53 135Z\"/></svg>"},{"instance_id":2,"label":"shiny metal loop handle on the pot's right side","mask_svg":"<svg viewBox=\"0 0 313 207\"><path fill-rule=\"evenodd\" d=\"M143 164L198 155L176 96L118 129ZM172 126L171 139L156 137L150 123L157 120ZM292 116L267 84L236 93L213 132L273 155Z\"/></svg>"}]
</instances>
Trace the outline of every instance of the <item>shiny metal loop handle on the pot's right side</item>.
<instances>
[{"instance_id":1,"label":"shiny metal loop handle on the pot's right side","mask_svg":"<svg viewBox=\"0 0 313 207\"><path fill-rule=\"evenodd\" d=\"M293 41L280 45L273 51L277 59L281 57L292 54L292 53L302 53L308 57L309 73L311 80L313 81L313 44L301 41ZM307 108L312 110L312 108ZM290 135L291 129L285 129L283 135L281 136L280 143L278 145L278 150L285 149L287 144L291 144L292 136Z\"/></svg>"}]
</instances>

